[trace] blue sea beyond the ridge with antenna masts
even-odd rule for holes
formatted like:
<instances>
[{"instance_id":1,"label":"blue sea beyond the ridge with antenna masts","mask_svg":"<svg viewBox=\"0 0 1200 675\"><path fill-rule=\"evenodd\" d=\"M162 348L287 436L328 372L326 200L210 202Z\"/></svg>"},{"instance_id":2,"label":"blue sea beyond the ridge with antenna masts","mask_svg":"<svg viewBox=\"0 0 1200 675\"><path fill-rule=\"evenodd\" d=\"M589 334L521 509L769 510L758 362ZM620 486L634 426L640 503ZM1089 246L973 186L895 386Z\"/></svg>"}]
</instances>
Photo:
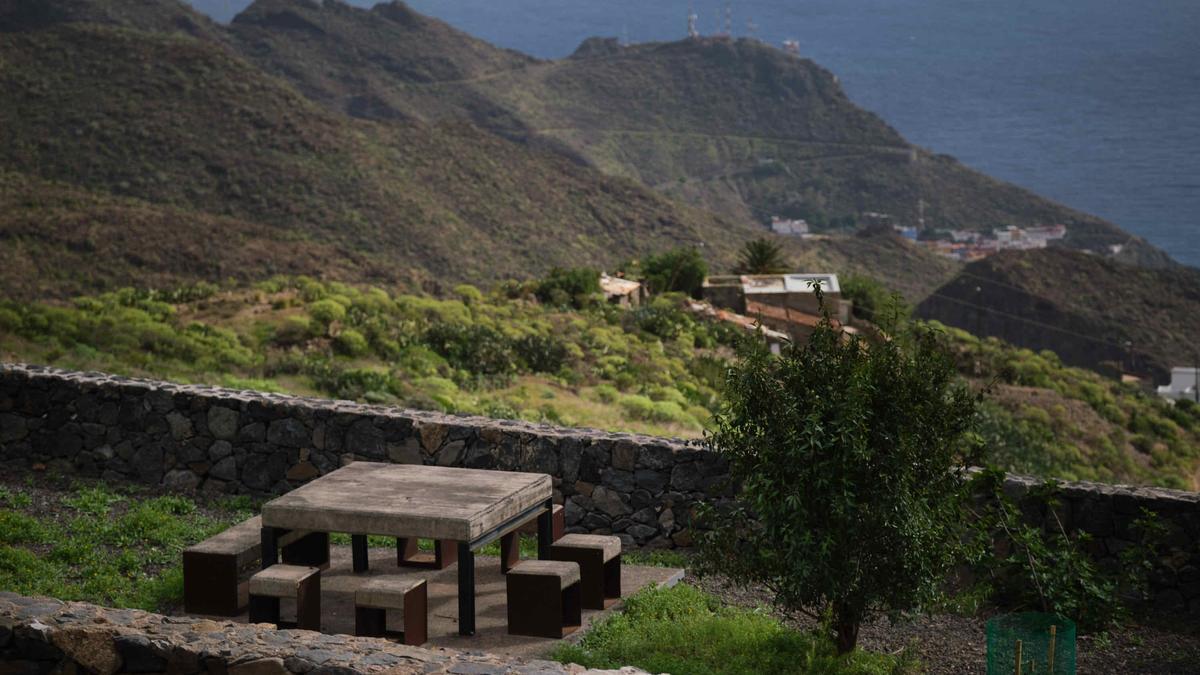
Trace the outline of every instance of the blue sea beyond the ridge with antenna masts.
<instances>
[{"instance_id":1,"label":"blue sea beyond the ridge with antenna masts","mask_svg":"<svg viewBox=\"0 0 1200 675\"><path fill-rule=\"evenodd\" d=\"M245 0L194 0L228 20ZM353 4L370 6L370 0ZM908 141L1200 267L1200 0L409 0L502 47L730 30L833 71Z\"/></svg>"}]
</instances>

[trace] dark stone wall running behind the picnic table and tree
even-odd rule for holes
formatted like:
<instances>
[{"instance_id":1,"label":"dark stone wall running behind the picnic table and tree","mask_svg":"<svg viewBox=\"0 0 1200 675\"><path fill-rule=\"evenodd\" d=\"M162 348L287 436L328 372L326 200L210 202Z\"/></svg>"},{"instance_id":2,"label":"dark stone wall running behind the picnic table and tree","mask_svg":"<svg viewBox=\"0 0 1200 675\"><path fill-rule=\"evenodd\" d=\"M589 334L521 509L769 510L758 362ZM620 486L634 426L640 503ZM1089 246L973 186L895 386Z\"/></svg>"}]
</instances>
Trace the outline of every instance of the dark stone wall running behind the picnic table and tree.
<instances>
[{"instance_id":1,"label":"dark stone wall running behind the picnic table and tree","mask_svg":"<svg viewBox=\"0 0 1200 675\"><path fill-rule=\"evenodd\" d=\"M0 456L11 465L271 495L348 461L424 462L554 477L572 532L617 533L626 546L690 544L694 504L730 496L727 466L683 441L563 429L0 364ZM1013 476L1021 497L1038 479ZM1152 579L1156 605L1200 614L1200 494L1067 483L1057 513L1117 565L1150 509L1169 538ZM1044 504L1022 503L1048 524Z\"/></svg>"}]
</instances>

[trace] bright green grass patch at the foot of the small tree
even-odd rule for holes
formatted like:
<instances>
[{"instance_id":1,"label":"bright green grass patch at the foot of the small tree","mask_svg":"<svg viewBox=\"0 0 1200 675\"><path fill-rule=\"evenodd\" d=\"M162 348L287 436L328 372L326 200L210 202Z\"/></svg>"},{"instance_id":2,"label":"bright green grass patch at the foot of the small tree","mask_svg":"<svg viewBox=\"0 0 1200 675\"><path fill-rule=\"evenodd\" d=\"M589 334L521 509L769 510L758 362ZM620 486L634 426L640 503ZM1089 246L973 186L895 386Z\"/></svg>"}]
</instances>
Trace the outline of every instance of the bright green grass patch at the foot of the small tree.
<instances>
[{"instance_id":1,"label":"bright green grass patch at the foot of the small tree","mask_svg":"<svg viewBox=\"0 0 1200 675\"><path fill-rule=\"evenodd\" d=\"M578 645L558 646L552 658L690 675L916 671L905 657L864 651L838 657L827 638L786 628L762 611L721 607L716 597L686 584L635 593L623 613L599 621Z\"/></svg>"}]
</instances>

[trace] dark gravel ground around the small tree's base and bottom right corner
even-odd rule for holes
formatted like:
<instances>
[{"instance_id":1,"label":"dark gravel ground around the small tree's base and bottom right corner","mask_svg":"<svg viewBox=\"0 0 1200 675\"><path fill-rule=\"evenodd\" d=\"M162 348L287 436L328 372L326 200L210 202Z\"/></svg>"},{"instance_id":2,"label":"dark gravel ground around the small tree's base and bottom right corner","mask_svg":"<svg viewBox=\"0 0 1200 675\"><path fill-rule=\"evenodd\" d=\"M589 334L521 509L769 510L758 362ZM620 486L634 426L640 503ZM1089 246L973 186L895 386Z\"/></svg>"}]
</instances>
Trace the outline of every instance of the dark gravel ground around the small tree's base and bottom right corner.
<instances>
[{"instance_id":1,"label":"dark gravel ground around the small tree's base and bottom right corner","mask_svg":"<svg viewBox=\"0 0 1200 675\"><path fill-rule=\"evenodd\" d=\"M770 595L763 589L733 587L719 578L698 579L689 574L684 581L695 584L738 607L769 607ZM811 628L808 617L786 622ZM986 643L984 623L988 616L937 614L892 623L872 620L859 633L859 646L870 651L899 653L911 649L925 673L984 674ZM1200 674L1200 621L1188 623L1138 617L1110 632L1106 638L1081 635L1076 643L1076 669L1080 674Z\"/></svg>"}]
</instances>

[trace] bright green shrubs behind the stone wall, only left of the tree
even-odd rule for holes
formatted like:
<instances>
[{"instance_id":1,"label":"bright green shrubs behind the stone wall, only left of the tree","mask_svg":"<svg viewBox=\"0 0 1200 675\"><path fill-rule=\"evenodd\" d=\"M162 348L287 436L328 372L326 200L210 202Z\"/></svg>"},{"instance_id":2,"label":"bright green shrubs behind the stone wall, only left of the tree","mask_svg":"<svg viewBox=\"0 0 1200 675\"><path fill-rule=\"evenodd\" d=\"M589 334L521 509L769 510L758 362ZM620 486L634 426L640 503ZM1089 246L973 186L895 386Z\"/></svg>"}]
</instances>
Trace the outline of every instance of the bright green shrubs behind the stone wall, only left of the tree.
<instances>
[{"instance_id":1,"label":"bright green shrubs behind the stone wall, only left of the tree","mask_svg":"<svg viewBox=\"0 0 1200 675\"><path fill-rule=\"evenodd\" d=\"M437 299L277 277L0 303L0 347L74 369L614 430L698 434L739 333L683 294L635 310L560 269Z\"/></svg>"}]
</instances>

